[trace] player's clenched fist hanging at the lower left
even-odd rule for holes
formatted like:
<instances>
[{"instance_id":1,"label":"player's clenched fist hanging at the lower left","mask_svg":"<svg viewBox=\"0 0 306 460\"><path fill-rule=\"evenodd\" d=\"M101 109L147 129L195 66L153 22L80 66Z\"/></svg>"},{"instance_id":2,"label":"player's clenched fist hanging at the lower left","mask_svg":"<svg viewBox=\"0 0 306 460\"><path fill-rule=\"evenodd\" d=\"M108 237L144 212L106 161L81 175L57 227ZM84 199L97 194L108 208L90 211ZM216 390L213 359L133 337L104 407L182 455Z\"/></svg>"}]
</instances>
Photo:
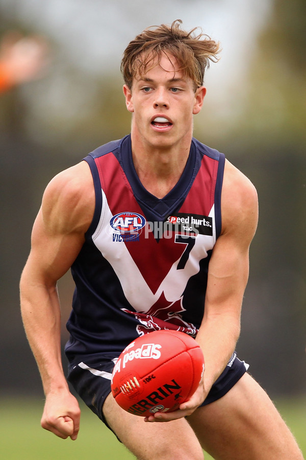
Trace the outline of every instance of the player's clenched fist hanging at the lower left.
<instances>
[{"instance_id":1,"label":"player's clenched fist hanging at the lower left","mask_svg":"<svg viewBox=\"0 0 306 460\"><path fill-rule=\"evenodd\" d=\"M79 403L71 393L49 393L45 400L41 426L45 430L72 441L78 437L81 410Z\"/></svg>"}]
</instances>

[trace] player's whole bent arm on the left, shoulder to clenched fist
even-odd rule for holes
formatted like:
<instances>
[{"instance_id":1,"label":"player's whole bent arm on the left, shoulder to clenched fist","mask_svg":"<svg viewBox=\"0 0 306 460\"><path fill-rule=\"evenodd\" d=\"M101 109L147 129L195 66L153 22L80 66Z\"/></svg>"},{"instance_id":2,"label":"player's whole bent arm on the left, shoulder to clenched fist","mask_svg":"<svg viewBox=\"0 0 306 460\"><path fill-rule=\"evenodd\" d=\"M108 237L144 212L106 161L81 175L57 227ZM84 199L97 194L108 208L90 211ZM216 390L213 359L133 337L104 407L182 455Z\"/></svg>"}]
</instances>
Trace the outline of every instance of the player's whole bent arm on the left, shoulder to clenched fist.
<instances>
[{"instance_id":1,"label":"player's whole bent arm on the left, shoulder to clenched fist","mask_svg":"<svg viewBox=\"0 0 306 460\"><path fill-rule=\"evenodd\" d=\"M57 281L79 254L93 207L92 178L85 162L56 176L45 190L20 280L24 329L46 396L41 423L61 438L77 438L80 409L62 369Z\"/></svg>"}]
</instances>

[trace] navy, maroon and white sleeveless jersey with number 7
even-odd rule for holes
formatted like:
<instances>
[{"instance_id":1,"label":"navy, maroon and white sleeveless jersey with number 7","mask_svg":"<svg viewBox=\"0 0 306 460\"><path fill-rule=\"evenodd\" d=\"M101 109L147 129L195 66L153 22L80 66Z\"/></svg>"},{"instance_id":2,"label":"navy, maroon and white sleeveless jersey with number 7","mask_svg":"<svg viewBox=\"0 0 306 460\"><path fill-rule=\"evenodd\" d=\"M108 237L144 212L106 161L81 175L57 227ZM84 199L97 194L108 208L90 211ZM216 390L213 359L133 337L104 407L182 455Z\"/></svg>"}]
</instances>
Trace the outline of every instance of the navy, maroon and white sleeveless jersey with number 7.
<instances>
[{"instance_id":1,"label":"navy, maroon and white sleeveless jersey with number 7","mask_svg":"<svg viewBox=\"0 0 306 460\"><path fill-rule=\"evenodd\" d=\"M221 231L224 155L192 140L184 172L162 199L134 168L131 136L91 152L95 212L71 267L70 362L119 356L136 337L173 329L195 337L212 249Z\"/></svg>"}]
</instances>

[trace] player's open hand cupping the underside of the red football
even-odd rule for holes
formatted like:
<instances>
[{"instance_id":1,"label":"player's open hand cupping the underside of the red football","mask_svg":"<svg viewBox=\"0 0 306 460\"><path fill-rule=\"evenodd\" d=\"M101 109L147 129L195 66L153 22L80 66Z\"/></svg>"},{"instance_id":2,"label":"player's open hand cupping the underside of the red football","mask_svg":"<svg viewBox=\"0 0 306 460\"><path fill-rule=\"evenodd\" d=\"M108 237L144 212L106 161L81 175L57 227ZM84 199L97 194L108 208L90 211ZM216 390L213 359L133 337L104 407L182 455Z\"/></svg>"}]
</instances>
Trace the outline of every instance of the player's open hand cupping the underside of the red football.
<instances>
[{"instance_id":1,"label":"player's open hand cupping the underside of the red football","mask_svg":"<svg viewBox=\"0 0 306 460\"><path fill-rule=\"evenodd\" d=\"M199 386L195 390L194 394L184 403L180 405L180 408L173 412L156 412L154 415L145 417L145 422L170 422L172 420L181 419L183 417L190 416L200 404L205 400L207 391L204 387L203 378L201 379Z\"/></svg>"}]
</instances>

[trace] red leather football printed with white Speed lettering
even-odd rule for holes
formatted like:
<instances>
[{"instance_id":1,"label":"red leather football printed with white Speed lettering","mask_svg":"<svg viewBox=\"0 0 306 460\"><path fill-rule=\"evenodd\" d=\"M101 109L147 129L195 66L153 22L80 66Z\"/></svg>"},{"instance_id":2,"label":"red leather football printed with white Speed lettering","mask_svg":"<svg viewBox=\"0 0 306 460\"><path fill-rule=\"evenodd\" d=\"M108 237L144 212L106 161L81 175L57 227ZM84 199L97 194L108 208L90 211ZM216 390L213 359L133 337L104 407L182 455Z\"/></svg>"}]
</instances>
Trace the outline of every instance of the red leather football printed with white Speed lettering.
<instances>
[{"instance_id":1,"label":"red leather football printed with white Speed lettering","mask_svg":"<svg viewBox=\"0 0 306 460\"><path fill-rule=\"evenodd\" d=\"M171 412L195 392L204 370L197 342L177 331L155 331L133 340L119 356L112 394L140 417Z\"/></svg>"}]
</instances>

